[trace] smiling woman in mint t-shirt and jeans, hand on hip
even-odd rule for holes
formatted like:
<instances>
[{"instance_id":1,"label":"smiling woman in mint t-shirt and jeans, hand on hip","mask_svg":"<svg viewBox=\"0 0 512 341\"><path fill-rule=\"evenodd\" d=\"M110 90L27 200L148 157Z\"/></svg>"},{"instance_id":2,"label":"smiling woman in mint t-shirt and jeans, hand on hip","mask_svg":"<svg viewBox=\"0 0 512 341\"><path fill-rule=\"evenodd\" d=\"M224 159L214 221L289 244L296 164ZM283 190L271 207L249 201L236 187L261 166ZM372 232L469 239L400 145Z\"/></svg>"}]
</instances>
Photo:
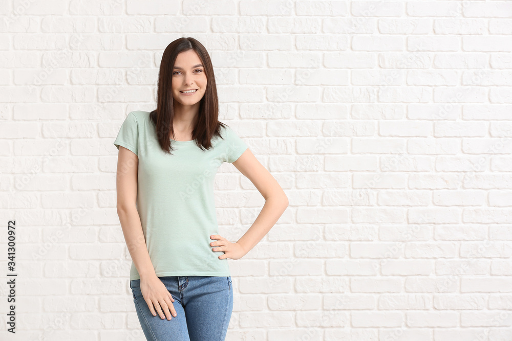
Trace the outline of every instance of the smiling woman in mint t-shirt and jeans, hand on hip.
<instances>
[{"instance_id":1,"label":"smiling woman in mint t-shirt and jeans, hand on hip","mask_svg":"<svg viewBox=\"0 0 512 341\"><path fill-rule=\"evenodd\" d=\"M114 145L117 212L146 339L224 340L233 307L227 259L240 259L258 244L288 199L245 142L218 121L214 70L199 41L179 38L167 46L157 109L130 112ZM213 184L224 162L265 198L237 242L218 233Z\"/></svg>"}]
</instances>

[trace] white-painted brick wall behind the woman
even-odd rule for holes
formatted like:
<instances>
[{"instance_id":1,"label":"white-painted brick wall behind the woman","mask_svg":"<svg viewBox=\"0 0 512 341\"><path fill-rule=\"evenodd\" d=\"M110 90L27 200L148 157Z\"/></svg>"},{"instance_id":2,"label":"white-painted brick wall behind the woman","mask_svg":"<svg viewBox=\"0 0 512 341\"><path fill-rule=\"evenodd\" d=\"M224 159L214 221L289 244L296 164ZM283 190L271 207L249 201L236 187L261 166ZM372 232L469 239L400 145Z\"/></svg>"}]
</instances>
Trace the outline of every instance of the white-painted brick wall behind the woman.
<instances>
[{"instance_id":1,"label":"white-painted brick wall behind the woman","mask_svg":"<svg viewBox=\"0 0 512 341\"><path fill-rule=\"evenodd\" d=\"M511 1L1 3L0 339L144 340L113 141L181 36L290 199L229 261L227 339L512 339ZM229 165L216 187L237 240L263 200Z\"/></svg>"}]
</instances>

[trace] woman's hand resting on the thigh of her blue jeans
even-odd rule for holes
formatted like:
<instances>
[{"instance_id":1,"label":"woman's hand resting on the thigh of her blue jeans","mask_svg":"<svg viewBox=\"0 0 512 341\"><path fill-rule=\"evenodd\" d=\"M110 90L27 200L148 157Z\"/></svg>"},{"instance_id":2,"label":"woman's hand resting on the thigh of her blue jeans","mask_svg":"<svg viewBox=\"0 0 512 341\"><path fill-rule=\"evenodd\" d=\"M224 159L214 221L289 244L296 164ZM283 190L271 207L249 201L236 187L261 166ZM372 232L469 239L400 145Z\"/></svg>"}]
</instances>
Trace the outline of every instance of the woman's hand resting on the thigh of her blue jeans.
<instances>
[{"instance_id":1,"label":"woman's hand resting on the thigh of her blue jeans","mask_svg":"<svg viewBox=\"0 0 512 341\"><path fill-rule=\"evenodd\" d=\"M171 312L174 317L177 316L172 303L174 302L173 295L170 294L165 284L157 276L141 278L140 291L153 316L156 316L157 312L162 320L165 319L165 316L167 316L167 320L171 320L173 318Z\"/></svg>"}]
</instances>

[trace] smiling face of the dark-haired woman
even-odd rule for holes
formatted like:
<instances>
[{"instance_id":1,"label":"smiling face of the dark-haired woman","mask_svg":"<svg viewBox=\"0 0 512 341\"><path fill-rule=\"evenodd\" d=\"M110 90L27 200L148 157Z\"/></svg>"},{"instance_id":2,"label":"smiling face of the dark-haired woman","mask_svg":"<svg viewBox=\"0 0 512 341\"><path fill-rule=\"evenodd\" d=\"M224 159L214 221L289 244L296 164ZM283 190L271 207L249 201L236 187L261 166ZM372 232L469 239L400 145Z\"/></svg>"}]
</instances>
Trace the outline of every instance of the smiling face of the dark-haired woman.
<instances>
[{"instance_id":1,"label":"smiling face of the dark-haired woman","mask_svg":"<svg viewBox=\"0 0 512 341\"><path fill-rule=\"evenodd\" d=\"M174 100L182 105L199 103L206 92L206 74L201 59L196 51L181 52L176 57L173 69L172 90ZM182 91L196 89L192 94L183 94Z\"/></svg>"}]
</instances>

